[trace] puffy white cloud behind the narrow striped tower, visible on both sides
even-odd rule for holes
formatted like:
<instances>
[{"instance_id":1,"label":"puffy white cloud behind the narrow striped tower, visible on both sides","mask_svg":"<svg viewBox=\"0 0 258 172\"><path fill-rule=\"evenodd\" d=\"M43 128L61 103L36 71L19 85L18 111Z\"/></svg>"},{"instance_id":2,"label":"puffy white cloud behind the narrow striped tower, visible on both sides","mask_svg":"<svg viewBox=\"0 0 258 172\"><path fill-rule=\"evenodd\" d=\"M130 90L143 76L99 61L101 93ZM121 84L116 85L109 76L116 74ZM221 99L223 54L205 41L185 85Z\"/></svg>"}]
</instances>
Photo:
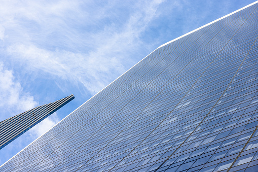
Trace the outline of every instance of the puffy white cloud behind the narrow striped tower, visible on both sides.
<instances>
[{"instance_id":1,"label":"puffy white cloud behind the narrow striped tower, visible on both sides","mask_svg":"<svg viewBox=\"0 0 258 172\"><path fill-rule=\"evenodd\" d=\"M1 120L23 113L27 110L39 106L34 97L23 91L19 82L15 80L13 72L4 67L4 63L0 61L0 111ZM29 135L36 139L52 126L54 126L60 119L54 113L39 124L35 125L29 130Z\"/></svg>"}]
</instances>

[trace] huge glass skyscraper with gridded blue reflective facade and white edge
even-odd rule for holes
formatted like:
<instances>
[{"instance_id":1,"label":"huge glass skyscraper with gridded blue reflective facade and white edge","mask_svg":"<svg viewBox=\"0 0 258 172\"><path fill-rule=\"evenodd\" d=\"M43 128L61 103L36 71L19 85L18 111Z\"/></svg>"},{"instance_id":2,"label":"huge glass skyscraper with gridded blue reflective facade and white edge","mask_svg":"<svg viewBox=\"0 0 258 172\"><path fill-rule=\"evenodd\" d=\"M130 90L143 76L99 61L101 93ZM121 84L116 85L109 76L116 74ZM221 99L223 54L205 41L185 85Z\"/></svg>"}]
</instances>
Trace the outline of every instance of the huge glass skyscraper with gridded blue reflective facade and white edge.
<instances>
[{"instance_id":1,"label":"huge glass skyscraper with gridded blue reflective facade and white edge","mask_svg":"<svg viewBox=\"0 0 258 172\"><path fill-rule=\"evenodd\" d=\"M258 171L258 8L164 44L1 171Z\"/></svg>"}]
</instances>

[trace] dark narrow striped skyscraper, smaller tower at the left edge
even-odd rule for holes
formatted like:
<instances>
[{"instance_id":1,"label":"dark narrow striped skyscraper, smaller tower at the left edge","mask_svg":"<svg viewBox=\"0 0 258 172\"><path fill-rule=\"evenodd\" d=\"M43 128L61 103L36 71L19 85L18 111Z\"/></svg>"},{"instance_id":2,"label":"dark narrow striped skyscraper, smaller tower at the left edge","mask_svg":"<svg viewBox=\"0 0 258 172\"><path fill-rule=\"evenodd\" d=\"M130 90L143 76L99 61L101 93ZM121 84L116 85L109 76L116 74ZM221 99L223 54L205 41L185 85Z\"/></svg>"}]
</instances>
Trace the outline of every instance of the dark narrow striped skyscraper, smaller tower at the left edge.
<instances>
[{"instance_id":1,"label":"dark narrow striped skyscraper, smaller tower at the left edge","mask_svg":"<svg viewBox=\"0 0 258 172\"><path fill-rule=\"evenodd\" d=\"M14 141L21 134L56 112L58 109L66 105L75 96L72 94L51 102L50 104L43 105L31 109L29 111L18 114L14 117L8 118L0 122L0 149Z\"/></svg>"}]
</instances>

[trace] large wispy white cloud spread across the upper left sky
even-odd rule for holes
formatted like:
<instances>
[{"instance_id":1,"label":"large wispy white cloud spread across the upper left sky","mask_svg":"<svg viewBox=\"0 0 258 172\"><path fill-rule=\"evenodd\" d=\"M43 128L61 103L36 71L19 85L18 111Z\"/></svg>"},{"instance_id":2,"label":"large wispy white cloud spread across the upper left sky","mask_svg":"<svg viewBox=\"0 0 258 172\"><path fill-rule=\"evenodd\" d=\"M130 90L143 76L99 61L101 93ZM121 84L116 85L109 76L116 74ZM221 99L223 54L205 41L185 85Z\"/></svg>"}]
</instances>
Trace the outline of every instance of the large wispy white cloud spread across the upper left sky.
<instances>
[{"instance_id":1,"label":"large wispy white cloud spread across the upper left sky","mask_svg":"<svg viewBox=\"0 0 258 172\"><path fill-rule=\"evenodd\" d=\"M130 67L129 54L141 48L139 37L159 16L157 9L162 2L134 2L126 17L112 13L118 2L98 6L97 11L90 9L94 3L80 1L6 3L0 7L0 15L6 19L3 22L6 35L9 35L5 47L13 62L26 66L23 68L28 73L44 72L73 84L80 82L95 94ZM16 10L8 10L5 5ZM103 18L125 21L101 23ZM102 28L87 30L95 25ZM55 38L57 35L61 39ZM53 46L46 48L42 44Z\"/></svg>"}]
</instances>

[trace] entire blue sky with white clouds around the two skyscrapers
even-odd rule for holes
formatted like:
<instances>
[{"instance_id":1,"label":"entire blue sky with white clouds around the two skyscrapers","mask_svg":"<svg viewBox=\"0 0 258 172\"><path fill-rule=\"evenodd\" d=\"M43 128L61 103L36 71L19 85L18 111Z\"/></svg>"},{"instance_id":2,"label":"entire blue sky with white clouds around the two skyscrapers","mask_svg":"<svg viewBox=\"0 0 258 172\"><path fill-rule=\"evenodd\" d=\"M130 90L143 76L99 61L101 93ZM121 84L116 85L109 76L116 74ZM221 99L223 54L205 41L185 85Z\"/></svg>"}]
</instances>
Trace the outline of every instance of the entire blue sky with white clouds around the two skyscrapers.
<instances>
[{"instance_id":1,"label":"entire blue sky with white clouds around the two skyscrapers","mask_svg":"<svg viewBox=\"0 0 258 172\"><path fill-rule=\"evenodd\" d=\"M75 99L0 150L0 165L131 66L255 1L1 1L0 121Z\"/></svg>"}]
</instances>

